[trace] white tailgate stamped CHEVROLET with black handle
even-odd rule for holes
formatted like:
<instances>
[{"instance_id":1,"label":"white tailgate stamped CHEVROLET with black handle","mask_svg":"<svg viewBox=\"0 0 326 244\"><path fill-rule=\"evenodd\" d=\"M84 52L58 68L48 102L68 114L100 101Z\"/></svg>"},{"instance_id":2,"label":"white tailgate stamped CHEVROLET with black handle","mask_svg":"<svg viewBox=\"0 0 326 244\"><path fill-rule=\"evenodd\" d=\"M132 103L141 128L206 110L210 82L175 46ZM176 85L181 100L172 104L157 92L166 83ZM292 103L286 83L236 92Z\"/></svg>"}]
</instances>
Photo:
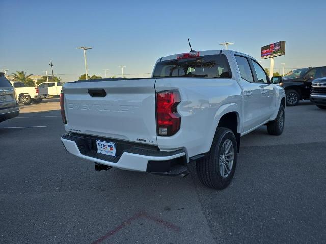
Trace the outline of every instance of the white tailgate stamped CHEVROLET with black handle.
<instances>
[{"instance_id":1,"label":"white tailgate stamped CHEVROLET with black handle","mask_svg":"<svg viewBox=\"0 0 326 244\"><path fill-rule=\"evenodd\" d=\"M66 83L68 131L156 145L154 85L155 79Z\"/></svg>"}]
</instances>

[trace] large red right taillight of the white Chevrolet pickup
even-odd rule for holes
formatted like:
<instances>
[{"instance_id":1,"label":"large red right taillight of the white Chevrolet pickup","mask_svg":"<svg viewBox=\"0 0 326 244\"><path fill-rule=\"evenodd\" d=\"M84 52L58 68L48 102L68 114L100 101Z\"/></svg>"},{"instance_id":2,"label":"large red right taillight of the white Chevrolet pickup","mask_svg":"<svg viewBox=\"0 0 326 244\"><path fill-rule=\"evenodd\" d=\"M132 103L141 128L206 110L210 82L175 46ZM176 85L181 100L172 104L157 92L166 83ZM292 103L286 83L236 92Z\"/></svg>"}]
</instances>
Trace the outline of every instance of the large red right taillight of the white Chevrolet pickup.
<instances>
[{"instance_id":1,"label":"large red right taillight of the white Chevrolet pickup","mask_svg":"<svg viewBox=\"0 0 326 244\"><path fill-rule=\"evenodd\" d=\"M180 129L181 117L177 112L180 102L177 90L156 93L156 123L159 136L172 136Z\"/></svg>"}]
</instances>

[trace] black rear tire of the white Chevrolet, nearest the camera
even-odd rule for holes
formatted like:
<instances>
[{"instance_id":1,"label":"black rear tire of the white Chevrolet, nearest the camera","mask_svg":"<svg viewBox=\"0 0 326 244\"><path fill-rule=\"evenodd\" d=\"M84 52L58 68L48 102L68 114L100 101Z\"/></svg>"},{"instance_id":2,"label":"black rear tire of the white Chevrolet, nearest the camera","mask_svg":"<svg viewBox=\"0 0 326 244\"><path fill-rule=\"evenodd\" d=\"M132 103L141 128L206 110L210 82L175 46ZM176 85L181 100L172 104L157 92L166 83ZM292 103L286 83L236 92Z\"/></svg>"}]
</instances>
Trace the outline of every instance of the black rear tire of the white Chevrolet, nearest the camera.
<instances>
[{"instance_id":1,"label":"black rear tire of the white Chevrolet, nearest the camera","mask_svg":"<svg viewBox=\"0 0 326 244\"><path fill-rule=\"evenodd\" d=\"M221 170L224 169L223 172L227 173L228 168L227 166L224 166L224 168L222 167L223 169L221 169L220 161L222 160L223 164L223 160L227 159L225 157L225 154L224 157L221 154L223 154L223 146L226 145L225 143L229 142L232 143L231 146L233 149L233 161L229 173L227 175L224 175L223 177L221 175ZM228 157L230 157L230 155ZM236 168L236 161L237 143L233 132L228 128L218 127L213 139L212 146L210 148L209 155L206 158L198 160L196 162L198 177L202 181L202 183L207 187L214 189L224 189L230 184L233 178ZM224 165L226 164L229 163L226 163L226 161L224 161Z\"/></svg>"}]
</instances>

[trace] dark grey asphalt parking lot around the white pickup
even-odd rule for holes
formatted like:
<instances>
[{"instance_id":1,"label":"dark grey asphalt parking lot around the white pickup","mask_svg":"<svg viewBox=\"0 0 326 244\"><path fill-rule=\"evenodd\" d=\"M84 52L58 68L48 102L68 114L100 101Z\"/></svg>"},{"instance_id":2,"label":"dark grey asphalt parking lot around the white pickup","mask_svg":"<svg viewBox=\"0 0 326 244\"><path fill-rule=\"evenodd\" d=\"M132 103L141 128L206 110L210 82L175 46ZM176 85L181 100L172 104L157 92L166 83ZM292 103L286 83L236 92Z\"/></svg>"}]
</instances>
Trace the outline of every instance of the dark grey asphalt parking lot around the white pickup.
<instances>
[{"instance_id":1,"label":"dark grey asphalt parking lot around the white pickup","mask_svg":"<svg viewBox=\"0 0 326 244\"><path fill-rule=\"evenodd\" d=\"M222 191L66 153L58 100L0 124L1 243L325 243L326 111L286 108L285 131L242 137ZM95 121L94 121L95 123Z\"/></svg>"}]
</instances>

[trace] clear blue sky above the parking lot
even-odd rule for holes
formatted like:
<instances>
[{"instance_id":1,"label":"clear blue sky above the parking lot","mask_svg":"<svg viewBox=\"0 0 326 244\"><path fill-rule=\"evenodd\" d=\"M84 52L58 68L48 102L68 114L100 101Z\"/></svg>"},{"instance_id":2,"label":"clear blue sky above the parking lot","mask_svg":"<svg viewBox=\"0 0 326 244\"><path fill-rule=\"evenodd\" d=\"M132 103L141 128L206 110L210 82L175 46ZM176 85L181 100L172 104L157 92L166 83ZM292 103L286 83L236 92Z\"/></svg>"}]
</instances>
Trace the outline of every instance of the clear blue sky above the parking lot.
<instances>
[{"instance_id":1,"label":"clear blue sky above the parking lot","mask_svg":"<svg viewBox=\"0 0 326 244\"><path fill-rule=\"evenodd\" d=\"M89 73L151 73L157 58L189 50L230 49L260 59L261 46L286 41L275 68L326 65L326 1L15 1L0 0L0 69L73 81ZM280 71L280 70L279 70ZM145 75L140 75L145 76ZM127 77L131 77L127 75ZM139 76L138 76L139 77Z\"/></svg>"}]
</instances>

